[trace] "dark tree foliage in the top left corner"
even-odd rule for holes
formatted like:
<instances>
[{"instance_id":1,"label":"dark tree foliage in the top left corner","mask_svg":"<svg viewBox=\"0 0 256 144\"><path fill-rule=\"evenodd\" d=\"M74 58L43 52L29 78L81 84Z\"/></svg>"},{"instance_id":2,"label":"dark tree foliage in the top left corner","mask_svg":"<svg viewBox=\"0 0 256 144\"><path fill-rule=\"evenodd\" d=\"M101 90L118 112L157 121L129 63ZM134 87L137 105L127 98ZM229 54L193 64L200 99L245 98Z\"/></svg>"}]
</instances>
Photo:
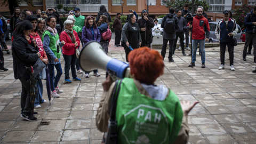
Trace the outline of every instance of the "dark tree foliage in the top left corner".
<instances>
[{"instance_id":1,"label":"dark tree foliage in the top left corner","mask_svg":"<svg viewBox=\"0 0 256 144\"><path fill-rule=\"evenodd\" d=\"M33 0L3 0L1 6L9 6L10 14L12 15L15 7L19 7L21 2L26 2L27 4L33 5Z\"/></svg>"}]
</instances>

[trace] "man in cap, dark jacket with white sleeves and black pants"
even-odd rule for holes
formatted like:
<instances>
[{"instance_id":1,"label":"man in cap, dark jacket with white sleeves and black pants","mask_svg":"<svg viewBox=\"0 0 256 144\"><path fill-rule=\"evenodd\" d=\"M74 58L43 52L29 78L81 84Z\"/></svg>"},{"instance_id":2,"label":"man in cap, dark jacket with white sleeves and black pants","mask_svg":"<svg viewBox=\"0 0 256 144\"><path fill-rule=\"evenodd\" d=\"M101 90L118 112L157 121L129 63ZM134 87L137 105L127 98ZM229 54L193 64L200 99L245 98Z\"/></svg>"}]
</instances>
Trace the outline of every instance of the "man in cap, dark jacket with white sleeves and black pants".
<instances>
[{"instance_id":1,"label":"man in cap, dark jacket with white sleeves and black pants","mask_svg":"<svg viewBox=\"0 0 256 144\"><path fill-rule=\"evenodd\" d=\"M233 37L237 34L238 28L236 21L229 18L228 10L223 11L223 19L220 20L215 29L215 35L220 40L220 60L221 65L219 69L225 68L225 52L228 45L230 70L234 68L234 46L232 44Z\"/></svg>"}]
</instances>

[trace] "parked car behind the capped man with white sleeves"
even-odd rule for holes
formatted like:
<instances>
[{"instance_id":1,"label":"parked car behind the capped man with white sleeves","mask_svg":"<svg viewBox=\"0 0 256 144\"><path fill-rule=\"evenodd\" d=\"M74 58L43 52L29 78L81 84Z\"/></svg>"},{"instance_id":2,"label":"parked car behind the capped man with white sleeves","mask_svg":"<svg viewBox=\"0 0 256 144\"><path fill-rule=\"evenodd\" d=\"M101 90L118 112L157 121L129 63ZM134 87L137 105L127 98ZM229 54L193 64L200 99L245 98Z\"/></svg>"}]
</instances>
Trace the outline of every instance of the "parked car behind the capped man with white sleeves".
<instances>
[{"instance_id":1,"label":"parked car behind the capped man with white sleeves","mask_svg":"<svg viewBox=\"0 0 256 144\"><path fill-rule=\"evenodd\" d=\"M215 36L215 29L217 27L218 22L209 22L210 25L210 38L209 38L209 43L219 43L219 39L217 39L217 37ZM239 25L237 25L238 28L238 32L235 36L237 42L243 42L242 38L243 38L243 33L242 30L240 28Z\"/></svg>"}]
</instances>

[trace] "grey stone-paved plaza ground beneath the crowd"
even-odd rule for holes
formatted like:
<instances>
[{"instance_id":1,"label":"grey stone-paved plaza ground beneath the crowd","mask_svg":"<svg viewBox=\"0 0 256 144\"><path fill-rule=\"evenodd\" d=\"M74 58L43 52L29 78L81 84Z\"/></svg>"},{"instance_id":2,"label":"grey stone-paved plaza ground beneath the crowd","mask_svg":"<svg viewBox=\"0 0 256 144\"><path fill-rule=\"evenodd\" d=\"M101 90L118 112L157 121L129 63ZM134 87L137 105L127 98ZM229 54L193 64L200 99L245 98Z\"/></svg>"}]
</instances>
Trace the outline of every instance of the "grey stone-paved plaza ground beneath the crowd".
<instances>
[{"instance_id":1,"label":"grey stone-paved plaza ground beneath the crowd","mask_svg":"<svg viewBox=\"0 0 256 144\"><path fill-rule=\"evenodd\" d=\"M252 55L246 57L247 61L242 60L243 46L235 46L235 71L229 69L228 52L225 69L218 69L219 47L205 49L204 69L199 55L196 66L188 67L189 51L185 51L186 56L175 51L171 63L165 58L164 75L157 79L156 84L169 87L180 100L200 102L188 116L189 143L255 143L256 74L252 70L256 63L253 63ZM85 78L84 73L77 74L82 81L71 84L63 83L63 74L59 87L64 92L60 98L52 98L51 106L46 81L43 80L43 99L47 102L35 109L38 120L28 122L20 117L21 83L14 79L12 57L6 52L4 54L5 67L9 70L0 72L0 143L101 142L102 133L95 126L95 116L103 92L101 83L105 81L105 70L99 69L100 77L93 76L93 73L90 78ZM114 47L114 39L110 42L108 55L125 61L125 52L122 47ZM61 66L64 71L63 58ZM42 122L49 124L43 125Z\"/></svg>"}]
</instances>

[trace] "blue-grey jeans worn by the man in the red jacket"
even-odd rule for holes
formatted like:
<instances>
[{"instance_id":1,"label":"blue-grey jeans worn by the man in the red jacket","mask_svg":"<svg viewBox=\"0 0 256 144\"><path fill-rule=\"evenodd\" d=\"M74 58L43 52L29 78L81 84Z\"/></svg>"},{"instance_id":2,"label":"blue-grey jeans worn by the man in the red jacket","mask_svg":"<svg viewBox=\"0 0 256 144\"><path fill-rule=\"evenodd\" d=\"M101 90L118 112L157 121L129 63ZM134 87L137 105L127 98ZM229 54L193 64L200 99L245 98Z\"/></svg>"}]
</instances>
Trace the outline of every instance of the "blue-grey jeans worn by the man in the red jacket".
<instances>
[{"instance_id":1,"label":"blue-grey jeans worn by the man in the red jacket","mask_svg":"<svg viewBox=\"0 0 256 144\"><path fill-rule=\"evenodd\" d=\"M205 63L205 51L204 51L204 39L192 39L192 62L196 62L196 50L197 50L197 45L199 43L199 49L201 50L201 61L202 63Z\"/></svg>"}]
</instances>

